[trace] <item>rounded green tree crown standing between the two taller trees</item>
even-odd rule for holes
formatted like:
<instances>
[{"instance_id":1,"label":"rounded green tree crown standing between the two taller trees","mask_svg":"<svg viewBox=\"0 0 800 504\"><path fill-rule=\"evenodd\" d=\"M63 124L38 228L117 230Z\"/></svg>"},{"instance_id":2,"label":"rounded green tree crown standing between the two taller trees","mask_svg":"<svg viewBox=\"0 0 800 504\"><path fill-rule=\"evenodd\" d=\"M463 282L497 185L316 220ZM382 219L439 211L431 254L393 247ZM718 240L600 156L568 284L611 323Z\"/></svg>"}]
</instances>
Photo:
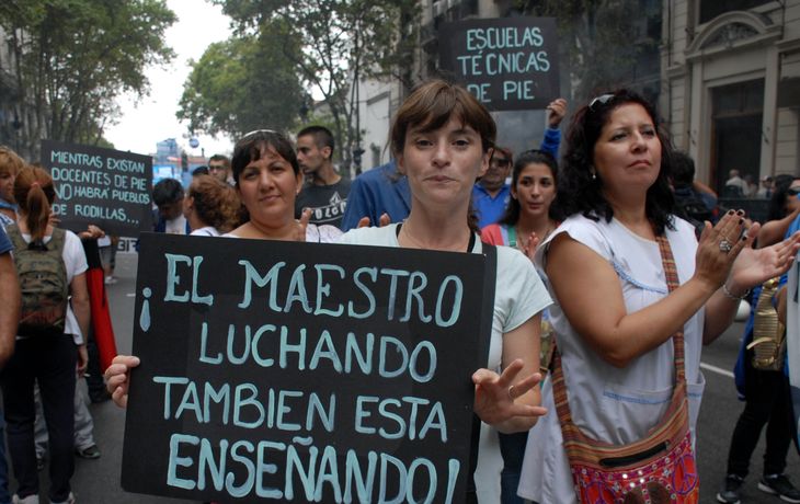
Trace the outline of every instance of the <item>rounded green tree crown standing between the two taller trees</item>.
<instances>
[{"instance_id":1,"label":"rounded green tree crown standing between the two taller trees","mask_svg":"<svg viewBox=\"0 0 800 504\"><path fill-rule=\"evenodd\" d=\"M281 23L261 34L238 35L212 44L192 64L178 117L192 130L235 137L264 127L290 129L302 103L294 65L285 53Z\"/></svg>"}]
</instances>

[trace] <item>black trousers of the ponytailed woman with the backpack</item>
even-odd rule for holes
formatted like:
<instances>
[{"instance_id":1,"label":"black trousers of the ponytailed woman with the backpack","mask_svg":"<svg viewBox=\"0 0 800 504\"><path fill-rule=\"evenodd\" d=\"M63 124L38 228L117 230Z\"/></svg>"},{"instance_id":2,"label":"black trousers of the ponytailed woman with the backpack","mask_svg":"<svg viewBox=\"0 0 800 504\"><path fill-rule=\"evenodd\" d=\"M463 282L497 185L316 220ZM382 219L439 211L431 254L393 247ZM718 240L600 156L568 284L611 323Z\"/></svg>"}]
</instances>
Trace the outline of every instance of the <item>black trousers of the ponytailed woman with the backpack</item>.
<instances>
[{"instance_id":1,"label":"black trousers of the ponytailed woman with the backpack","mask_svg":"<svg viewBox=\"0 0 800 504\"><path fill-rule=\"evenodd\" d=\"M77 351L72 337L42 336L18 340L14 355L2 373L3 404L9 453L20 497L38 494L38 471L34 447L33 385L42 391L50 449L49 499L69 499L69 480L75 472L75 380Z\"/></svg>"}]
</instances>

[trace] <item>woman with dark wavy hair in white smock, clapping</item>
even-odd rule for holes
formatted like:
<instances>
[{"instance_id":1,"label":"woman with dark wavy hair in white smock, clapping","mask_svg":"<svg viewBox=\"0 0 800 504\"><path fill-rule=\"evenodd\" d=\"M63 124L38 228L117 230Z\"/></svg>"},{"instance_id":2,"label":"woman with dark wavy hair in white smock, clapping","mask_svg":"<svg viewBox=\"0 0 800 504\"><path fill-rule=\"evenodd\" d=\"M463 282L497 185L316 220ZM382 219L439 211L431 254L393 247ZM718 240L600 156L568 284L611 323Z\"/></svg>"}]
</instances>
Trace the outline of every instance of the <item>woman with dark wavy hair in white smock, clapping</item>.
<instances>
[{"instance_id":1,"label":"woman with dark wavy hair in white smock, clapping","mask_svg":"<svg viewBox=\"0 0 800 504\"><path fill-rule=\"evenodd\" d=\"M791 265L800 234L751 248L743 213L706 228L671 215L668 148L653 107L635 93L604 94L579 110L568 134L556 204L570 216L539 247L557 300L550 309L573 421L602 442L644 437L667 408L674 386L672 335L685 334L690 426L702 393L700 347L731 323L746 290ZM744 234L743 234L744 232ZM681 286L667 294L655 238L670 242ZM573 503L553 393L552 414L530 432L519 494Z\"/></svg>"}]
</instances>

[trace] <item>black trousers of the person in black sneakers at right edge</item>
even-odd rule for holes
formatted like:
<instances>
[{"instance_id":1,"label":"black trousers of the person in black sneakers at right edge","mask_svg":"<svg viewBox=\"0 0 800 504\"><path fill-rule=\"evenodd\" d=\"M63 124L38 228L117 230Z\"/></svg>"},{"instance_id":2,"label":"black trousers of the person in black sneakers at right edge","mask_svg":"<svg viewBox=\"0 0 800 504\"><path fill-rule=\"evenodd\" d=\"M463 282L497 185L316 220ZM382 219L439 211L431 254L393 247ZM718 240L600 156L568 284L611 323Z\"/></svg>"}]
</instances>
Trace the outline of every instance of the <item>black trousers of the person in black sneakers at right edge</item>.
<instances>
[{"instance_id":1,"label":"black trousers of the person in black sneakers at right edge","mask_svg":"<svg viewBox=\"0 0 800 504\"><path fill-rule=\"evenodd\" d=\"M747 476L750 457L758 444L764 424L768 422L764 474L780 474L786 468L795 423L789 378L784 371L754 369L750 364L750 352L744 373L746 402L733 429L728 454L728 473L742 478Z\"/></svg>"}]
</instances>

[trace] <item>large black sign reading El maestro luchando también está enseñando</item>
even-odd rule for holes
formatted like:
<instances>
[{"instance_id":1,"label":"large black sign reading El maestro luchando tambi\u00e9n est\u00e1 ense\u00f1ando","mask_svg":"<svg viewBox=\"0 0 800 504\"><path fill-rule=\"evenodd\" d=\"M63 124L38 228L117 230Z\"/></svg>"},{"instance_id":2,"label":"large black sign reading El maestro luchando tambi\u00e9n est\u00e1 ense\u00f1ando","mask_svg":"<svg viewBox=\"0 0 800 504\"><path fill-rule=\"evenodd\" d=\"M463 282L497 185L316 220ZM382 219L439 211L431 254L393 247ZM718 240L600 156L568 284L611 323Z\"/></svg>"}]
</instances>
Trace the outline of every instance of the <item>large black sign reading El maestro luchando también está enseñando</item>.
<instances>
[{"instance_id":1,"label":"large black sign reading El maestro luchando tambi\u00e9n est\u00e1 ense\u00f1ando","mask_svg":"<svg viewBox=\"0 0 800 504\"><path fill-rule=\"evenodd\" d=\"M125 490L465 501L482 255L144 233L138 267Z\"/></svg>"}]
</instances>

